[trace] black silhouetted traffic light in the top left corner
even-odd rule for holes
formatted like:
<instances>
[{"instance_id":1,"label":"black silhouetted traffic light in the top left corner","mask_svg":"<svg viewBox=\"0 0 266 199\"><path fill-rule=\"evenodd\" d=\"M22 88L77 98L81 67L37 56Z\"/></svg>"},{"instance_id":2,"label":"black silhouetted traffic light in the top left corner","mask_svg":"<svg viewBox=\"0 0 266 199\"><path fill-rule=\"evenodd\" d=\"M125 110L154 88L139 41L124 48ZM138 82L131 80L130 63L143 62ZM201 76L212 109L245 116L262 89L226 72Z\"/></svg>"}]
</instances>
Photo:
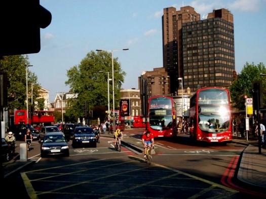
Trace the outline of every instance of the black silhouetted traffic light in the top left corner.
<instances>
[{"instance_id":1,"label":"black silhouetted traffic light in the top left corner","mask_svg":"<svg viewBox=\"0 0 266 199\"><path fill-rule=\"evenodd\" d=\"M51 23L51 13L40 0L3 0L0 8L0 56L38 53L40 28Z\"/></svg>"}]
</instances>

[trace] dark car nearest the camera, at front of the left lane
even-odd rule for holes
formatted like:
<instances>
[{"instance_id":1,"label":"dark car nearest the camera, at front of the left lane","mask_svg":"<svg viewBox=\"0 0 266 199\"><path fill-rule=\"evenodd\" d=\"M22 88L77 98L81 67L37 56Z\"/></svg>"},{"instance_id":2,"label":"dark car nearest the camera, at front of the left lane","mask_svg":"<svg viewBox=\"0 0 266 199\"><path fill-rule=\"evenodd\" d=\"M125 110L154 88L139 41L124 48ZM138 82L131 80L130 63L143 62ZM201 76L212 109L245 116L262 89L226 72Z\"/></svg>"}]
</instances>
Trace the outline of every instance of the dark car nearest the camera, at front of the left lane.
<instances>
[{"instance_id":1,"label":"dark car nearest the camera, at front of the left lane","mask_svg":"<svg viewBox=\"0 0 266 199\"><path fill-rule=\"evenodd\" d=\"M69 156L69 145L61 133L49 133L41 141L41 157L48 155Z\"/></svg>"}]
</instances>

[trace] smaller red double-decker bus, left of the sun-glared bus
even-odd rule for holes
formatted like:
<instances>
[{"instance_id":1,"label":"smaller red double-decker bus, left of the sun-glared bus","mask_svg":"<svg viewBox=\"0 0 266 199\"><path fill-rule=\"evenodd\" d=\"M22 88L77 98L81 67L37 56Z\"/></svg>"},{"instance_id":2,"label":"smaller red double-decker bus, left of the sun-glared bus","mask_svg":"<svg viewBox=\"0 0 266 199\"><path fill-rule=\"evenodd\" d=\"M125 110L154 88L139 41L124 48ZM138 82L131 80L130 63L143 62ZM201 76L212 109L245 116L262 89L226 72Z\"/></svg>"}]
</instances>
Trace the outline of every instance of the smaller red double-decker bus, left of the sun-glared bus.
<instances>
[{"instance_id":1,"label":"smaller red double-decker bus, left of the sun-glared bus","mask_svg":"<svg viewBox=\"0 0 266 199\"><path fill-rule=\"evenodd\" d=\"M155 138L176 136L176 102L172 97L155 96L148 99L147 129Z\"/></svg>"}]
</instances>

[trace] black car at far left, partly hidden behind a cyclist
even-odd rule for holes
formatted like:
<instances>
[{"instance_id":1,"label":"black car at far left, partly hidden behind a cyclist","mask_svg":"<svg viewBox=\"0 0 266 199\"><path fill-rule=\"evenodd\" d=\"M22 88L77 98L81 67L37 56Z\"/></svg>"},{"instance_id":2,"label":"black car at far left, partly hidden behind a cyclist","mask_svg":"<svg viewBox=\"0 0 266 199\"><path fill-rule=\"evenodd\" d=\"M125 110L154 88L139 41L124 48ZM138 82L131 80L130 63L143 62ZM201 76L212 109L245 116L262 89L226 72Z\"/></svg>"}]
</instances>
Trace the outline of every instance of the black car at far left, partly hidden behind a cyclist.
<instances>
[{"instance_id":1,"label":"black car at far left, partly hidden behind a cyclist","mask_svg":"<svg viewBox=\"0 0 266 199\"><path fill-rule=\"evenodd\" d=\"M14 133L14 136L16 137L16 140L25 140L25 134L27 129L30 130L32 134L32 140L37 140L39 138L39 130L35 129L30 124L18 124L14 125L11 128L11 131Z\"/></svg>"}]
</instances>

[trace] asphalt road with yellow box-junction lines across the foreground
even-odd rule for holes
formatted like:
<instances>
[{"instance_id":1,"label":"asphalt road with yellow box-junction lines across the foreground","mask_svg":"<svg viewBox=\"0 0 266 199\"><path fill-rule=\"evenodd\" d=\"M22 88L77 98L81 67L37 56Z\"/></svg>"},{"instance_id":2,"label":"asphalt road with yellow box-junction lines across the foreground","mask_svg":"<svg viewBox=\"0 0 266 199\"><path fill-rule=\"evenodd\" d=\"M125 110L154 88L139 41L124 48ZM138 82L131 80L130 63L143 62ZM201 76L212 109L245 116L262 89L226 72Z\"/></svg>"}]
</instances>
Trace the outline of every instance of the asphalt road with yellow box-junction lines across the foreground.
<instances>
[{"instance_id":1,"label":"asphalt road with yellow box-junction lines across the foreground","mask_svg":"<svg viewBox=\"0 0 266 199\"><path fill-rule=\"evenodd\" d=\"M123 141L141 147L141 132L125 130ZM226 171L244 146L193 146L182 137L156 140L151 165L126 146L116 151L112 137L101 137L97 148L71 148L69 157L40 158L40 144L33 142L28 157L36 162L5 186L12 184L23 198L251 197L226 186L238 183L228 181Z\"/></svg>"}]
</instances>

